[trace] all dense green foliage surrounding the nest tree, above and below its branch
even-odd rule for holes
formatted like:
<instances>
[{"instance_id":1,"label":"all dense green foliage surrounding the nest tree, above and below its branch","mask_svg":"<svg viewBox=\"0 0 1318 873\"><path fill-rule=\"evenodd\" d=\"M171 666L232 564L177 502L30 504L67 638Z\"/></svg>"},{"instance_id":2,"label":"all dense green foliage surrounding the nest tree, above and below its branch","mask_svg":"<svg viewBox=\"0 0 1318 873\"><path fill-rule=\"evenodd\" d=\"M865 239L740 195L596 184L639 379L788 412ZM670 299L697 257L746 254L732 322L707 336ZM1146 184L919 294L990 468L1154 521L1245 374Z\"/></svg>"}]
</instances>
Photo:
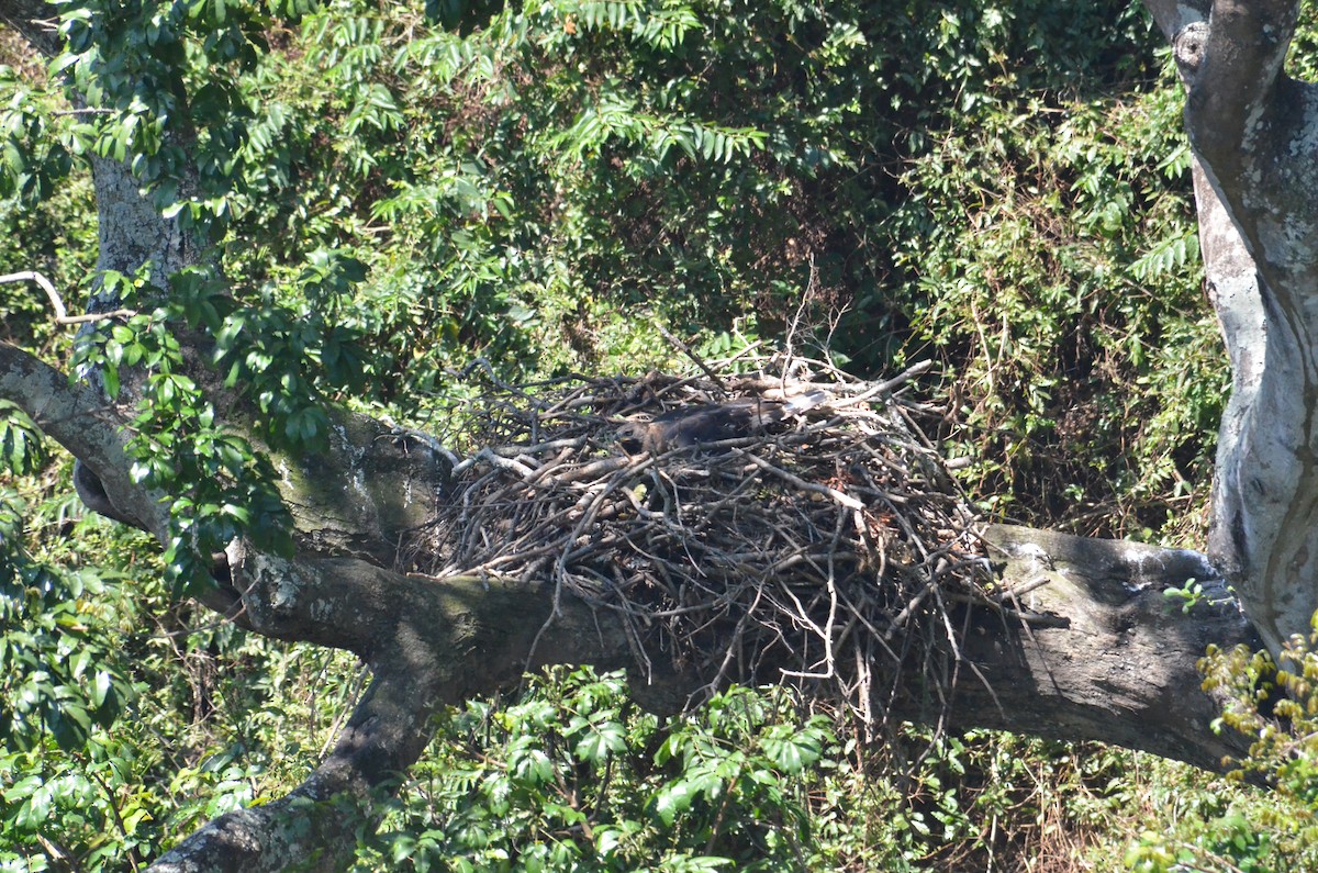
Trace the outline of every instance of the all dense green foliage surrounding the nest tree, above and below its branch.
<instances>
[{"instance_id":1,"label":"all dense green foliage surrounding the nest tree, above and below its branch","mask_svg":"<svg viewBox=\"0 0 1318 873\"><path fill-rule=\"evenodd\" d=\"M921 388L986 512L1202 533L1227 367L1182 96L1137 5L430 5L439 22L365 0L75 0L54 67L104 115L69 112L0 30L0 273L41 270L70 302L107 280L91 154L140 156L162 208L220 247L175 309L82 352L156 356L144 459L177 448L148 472L194 489L178 524L220 539L262 492L236 491L248 447L170 373L159 319L223 328L220 364L293 448L323 434L318 397L460 442L478 360L505 381L688 367L660 328L861 375L932 356ZM107 70L125 45L136 66ZM195 193L161 145L179 115L208 120ZM71 355L33 287L0 285L0 339ZM70 463L0 411L0 869L136 869L295 785L362 677L173 599L185 557L83 517ZM776 691L659 721L588 671L438 731L361 869L1318 864L1313 777L1281 738L1260 766L1289 787L1259 794L1011 736L866 744Z\"/></svg>"}]
</instances>

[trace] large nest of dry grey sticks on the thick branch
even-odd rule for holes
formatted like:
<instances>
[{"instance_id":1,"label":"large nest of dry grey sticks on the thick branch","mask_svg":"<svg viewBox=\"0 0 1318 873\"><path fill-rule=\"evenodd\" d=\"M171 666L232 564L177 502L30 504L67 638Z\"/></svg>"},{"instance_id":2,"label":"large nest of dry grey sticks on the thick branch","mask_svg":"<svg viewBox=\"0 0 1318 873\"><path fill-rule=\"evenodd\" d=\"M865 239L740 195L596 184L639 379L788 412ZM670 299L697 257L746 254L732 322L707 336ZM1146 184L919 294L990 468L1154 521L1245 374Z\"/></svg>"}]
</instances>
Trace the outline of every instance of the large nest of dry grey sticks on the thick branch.
<instances>
[{"instance_id":1,"label":"large nest of dry grey sticks on the thick branch","mask_svg":"<svg viewBox=\"0 0 1318 873\"><path fill-rule=\"evenodd\" d=\"M934 410L903 396L920 368L875 384L771 364L492 390L468 406L484 448L457 464L416 570L543 580L626 622L643 671L668 658L710 688L822 683L874 724L921 658L941 694L952 607L982 599L987 562L919 426ZM824 400L708 444L618 439L688 407L803 396Z\"/></svg>"}]
</instances>

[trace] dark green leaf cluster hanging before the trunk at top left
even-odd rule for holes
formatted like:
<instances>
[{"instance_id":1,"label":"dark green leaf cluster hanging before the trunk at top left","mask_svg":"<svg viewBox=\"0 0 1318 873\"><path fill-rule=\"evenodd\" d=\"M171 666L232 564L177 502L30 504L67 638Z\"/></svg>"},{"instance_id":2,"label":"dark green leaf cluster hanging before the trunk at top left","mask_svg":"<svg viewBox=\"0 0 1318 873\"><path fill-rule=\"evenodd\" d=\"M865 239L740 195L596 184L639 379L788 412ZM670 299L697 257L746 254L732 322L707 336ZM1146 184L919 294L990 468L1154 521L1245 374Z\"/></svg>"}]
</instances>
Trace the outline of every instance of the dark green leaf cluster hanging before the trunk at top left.
<instances>
[{"instance_id":1,"label":"dark green leaf cluster hanging before the trunk at top left","mask_svg":"<svg viewBox=\"0 0 1318 873\"><path fill-rule=\"evenodd\" d=\"M243 183L249 112L239 79L265 50L265 22L241 0L65 4L67 53L51 70L83 108L59 125L58 141L74 154L129 164L161 208L217 239L232 219L228 196ZM191 191L182 202L181 190Z\"/></svg>"}]
</instances>

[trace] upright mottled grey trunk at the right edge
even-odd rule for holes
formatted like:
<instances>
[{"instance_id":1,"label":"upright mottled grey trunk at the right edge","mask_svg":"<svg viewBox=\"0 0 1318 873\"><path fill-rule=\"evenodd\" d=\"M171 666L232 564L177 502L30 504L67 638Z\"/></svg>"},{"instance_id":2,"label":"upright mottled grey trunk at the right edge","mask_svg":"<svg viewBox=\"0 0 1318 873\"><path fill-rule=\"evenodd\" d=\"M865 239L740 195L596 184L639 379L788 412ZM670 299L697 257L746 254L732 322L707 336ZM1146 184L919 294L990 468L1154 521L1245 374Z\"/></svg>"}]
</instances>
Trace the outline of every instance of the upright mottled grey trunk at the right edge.
<instances>
[{"instance_id":1,"label":"upright mottled grey trunk at the right edge","mask_svg":"<svg viewBox=\"0 0 1318 873\"><path fill-rule=\"evenodd\" d=\"M1318 609L1318 90L1284 71L1298 3L1147 5L1188 87L1232 365L1210 551L1276 653Z\"/></svg>"}]
</instances>

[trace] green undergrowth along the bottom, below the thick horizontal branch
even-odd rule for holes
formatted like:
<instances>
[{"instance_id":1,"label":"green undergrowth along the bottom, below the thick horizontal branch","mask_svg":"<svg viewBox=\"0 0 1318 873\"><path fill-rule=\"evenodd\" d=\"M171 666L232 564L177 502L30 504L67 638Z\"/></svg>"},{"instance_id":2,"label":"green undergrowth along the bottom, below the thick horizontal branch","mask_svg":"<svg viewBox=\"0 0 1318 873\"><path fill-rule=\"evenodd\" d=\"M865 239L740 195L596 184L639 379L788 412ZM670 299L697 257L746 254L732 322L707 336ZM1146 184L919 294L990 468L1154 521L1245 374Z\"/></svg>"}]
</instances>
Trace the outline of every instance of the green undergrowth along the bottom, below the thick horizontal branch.
<instances>
[{"instance_id":1,"label":"green undergrowth along the bottom, below the thick horizontal branch","mask_svg":"<svg viewBox=\"0 0 1318 873\"><path fill-rule=\"evenodd\" d=\"M109 729L91 719L82 733L29 724L21 741L7 737L0 869L62 869L59 857L128 869L217 814L295 786L364 690L360 663L250 637L171 601L158 564L140 557L146 543L80 518L67 497L42 501L65 493L57 476L11 485L8 504L26 502L26 546L5 566L42 567L51 589L82 587L66 589L76 624L55 613L66 633L28 650L7 634L4 675L46 670L75 713L94 706L95 683L50 665L87 651L88 671L116 677L121 715ZM14 533L5 529L7 543ZM16 591L4 588L7 626L30 630L21 609L32 601ZM45 653L46 666L25 663L24 651ZM1122 749L987 731L894 725L863 742L854 724L783 688L731 688L660 717L619 674L556 669L436 719L427 754L378 807L380 831L361 835L353 869L1309 869L1318 860L1309 716L1292 713L1286 731L1275 713L1257 715L1277 678L1246 653L1231 658L1217 673L1242 702L1227 720L1261 737L1251 766L1280 791ZM1309 682L1311 657L1297 658L1298 678L1286 682ZM1296 686L1298 699L1307 687Z\"/></svg>"}]
</instances>

